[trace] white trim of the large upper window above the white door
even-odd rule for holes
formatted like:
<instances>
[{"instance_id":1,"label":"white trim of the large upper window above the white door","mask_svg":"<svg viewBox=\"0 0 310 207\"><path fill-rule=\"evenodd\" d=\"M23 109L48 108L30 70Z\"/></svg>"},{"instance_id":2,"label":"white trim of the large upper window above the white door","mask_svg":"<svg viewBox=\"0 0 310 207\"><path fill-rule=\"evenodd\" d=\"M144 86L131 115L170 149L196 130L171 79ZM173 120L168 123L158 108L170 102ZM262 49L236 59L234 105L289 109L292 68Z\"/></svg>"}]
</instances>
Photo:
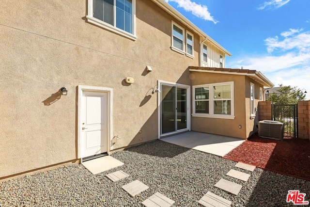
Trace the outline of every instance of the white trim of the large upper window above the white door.
<instances>
[{"instance_id":1,"label":"white trim of the large upper window above the white door","mask_svg":"<svg viewBox=\"0 0 310 207\"><path fill-rule=\"evenodd\" d=\"M114 0L114 7L116 5L116 0ZM124 37L127 37L131 40L136 40L137 36L136 36L136 0L132 0L132 24L133 24L133 28L132 28L132 34L129 32L126 32L124 30L121 30L117 27L114 27L113 25L110 25L104 21L101 21L100 19L97 19L95 17L93 17L93 0L88 0L88 11L87 11L87 21L97 25L101 28L107 29L111 32L115 32L119 35L122 35ZM115 21L115 12L114 12L114 21Z\"/></svg>"}]
</instances>

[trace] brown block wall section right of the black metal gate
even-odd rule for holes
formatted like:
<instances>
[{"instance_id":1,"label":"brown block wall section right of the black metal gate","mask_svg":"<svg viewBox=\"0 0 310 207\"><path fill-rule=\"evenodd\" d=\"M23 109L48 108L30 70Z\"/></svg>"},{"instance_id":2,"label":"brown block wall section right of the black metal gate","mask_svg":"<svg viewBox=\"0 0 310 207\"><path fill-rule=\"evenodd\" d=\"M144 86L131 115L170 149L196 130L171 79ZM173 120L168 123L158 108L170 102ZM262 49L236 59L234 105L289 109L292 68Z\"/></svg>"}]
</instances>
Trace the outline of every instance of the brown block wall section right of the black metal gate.
<instances>
[{"instance_id":1,"label":"brown block wall section right of the black metal gate","mask_svg":"<svg viewBox=\"0 0 310 207\"><path fill-rule=\"evenodd\" d=\"M298 138L309 139L310 100L298 101Z\"/></svg>"}]
</instances>

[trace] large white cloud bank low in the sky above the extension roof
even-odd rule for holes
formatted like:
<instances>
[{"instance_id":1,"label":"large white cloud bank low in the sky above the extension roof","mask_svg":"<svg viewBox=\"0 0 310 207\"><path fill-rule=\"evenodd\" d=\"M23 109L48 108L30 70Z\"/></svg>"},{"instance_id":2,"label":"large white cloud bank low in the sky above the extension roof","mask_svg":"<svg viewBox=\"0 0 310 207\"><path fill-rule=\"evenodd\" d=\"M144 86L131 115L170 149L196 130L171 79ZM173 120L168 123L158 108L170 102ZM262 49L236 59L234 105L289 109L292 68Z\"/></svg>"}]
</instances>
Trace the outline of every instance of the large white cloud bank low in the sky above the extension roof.
<instances>
[{"instance_id":1,"label":"large white cloud bank low in the sky above the extension roof","mask_svg":"<svg viewBox=\"0 0 310 207\"><path fill-rule=\"evenodd\" d=\"M279 37L269 37L264 40L267 55L235 57L234 62L226 60L226 66L261 71L275 86L282 83L306 89L310 100L310 31L301 31L290 29Z\"/></svg>"}]
</instances>

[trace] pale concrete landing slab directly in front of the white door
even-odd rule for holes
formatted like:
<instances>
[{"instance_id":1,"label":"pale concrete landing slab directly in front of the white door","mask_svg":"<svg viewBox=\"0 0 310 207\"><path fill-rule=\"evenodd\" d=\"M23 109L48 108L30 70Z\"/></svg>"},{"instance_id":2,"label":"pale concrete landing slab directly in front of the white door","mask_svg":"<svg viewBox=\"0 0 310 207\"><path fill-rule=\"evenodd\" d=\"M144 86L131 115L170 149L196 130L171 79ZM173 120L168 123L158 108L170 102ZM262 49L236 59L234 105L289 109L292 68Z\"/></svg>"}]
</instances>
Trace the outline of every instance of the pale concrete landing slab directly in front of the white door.
<instances>
[{"instance_id":1,"label":"pale concrete landing slab directly in front of the white door","mask_svg":"<svg viewBox=\"0 0 310 207\"><path fill-rule=\"evenodd\" d=\"M104 156L101 158L82 162L82 165L84 165L93 175L96 175L98 173L102 173L112 168L124 165L124 163L120 160L112 158L111 156Z\"/></svg>"}]
</instances>

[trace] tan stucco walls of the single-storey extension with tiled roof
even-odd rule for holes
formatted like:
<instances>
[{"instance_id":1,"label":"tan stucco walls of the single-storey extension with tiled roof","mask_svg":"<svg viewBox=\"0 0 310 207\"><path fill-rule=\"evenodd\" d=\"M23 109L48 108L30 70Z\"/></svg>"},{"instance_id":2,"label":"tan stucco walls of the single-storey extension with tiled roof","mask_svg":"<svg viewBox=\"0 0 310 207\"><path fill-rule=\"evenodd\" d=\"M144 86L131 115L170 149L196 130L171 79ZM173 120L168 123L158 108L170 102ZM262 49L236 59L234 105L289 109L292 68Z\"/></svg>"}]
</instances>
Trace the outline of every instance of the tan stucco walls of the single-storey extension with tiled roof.
<instances>
[{"instance_id":1,"label":"tan stucco walls of the single-storey extension with tiled roof","mask_svg":"<svg viewBox=\"0 0 310 207\"><path fill-rule=\"evenodd\" d=\"M256 132L258 113L250 116L250 83L254 83L255 107L258 108L259 89L263 85L243 75L191 72L192 86L209 83L234 82L234 119L192 117L193 131L247 139ZM193 97L192 97L193 98ZM241 128L239 128L241 126Z\"/></svg>"}]
</instances>

